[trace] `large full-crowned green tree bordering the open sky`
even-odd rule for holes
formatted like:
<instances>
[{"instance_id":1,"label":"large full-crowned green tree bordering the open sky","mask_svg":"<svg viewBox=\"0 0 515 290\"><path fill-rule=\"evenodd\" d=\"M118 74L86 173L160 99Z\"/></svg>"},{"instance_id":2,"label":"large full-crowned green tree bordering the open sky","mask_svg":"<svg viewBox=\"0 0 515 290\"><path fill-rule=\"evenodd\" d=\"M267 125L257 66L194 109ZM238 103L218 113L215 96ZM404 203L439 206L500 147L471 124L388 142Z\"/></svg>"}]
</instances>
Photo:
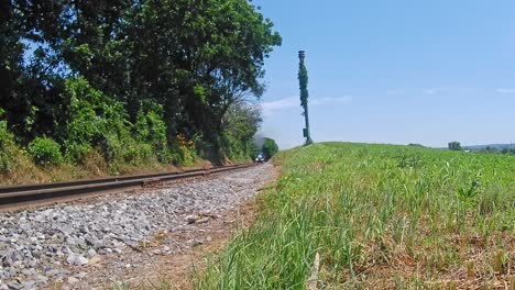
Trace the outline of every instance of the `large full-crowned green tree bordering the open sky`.
<instances>
[{"instance_id":1,"label":"large full-crowned green tree bordering the open sky","mask_svg":"<svg viewBox=\"0 0 515 290\"><path fill-rule=\"evenodd\" d=\"M155 99L169 135L201 133L218 147L229 107L264 90L264 59L282 41L272 22L246 0L145 1L129 15L111 55L129 63L127 87L149 83L125 93L129 111Z\"/></svg>"}]
</instances>

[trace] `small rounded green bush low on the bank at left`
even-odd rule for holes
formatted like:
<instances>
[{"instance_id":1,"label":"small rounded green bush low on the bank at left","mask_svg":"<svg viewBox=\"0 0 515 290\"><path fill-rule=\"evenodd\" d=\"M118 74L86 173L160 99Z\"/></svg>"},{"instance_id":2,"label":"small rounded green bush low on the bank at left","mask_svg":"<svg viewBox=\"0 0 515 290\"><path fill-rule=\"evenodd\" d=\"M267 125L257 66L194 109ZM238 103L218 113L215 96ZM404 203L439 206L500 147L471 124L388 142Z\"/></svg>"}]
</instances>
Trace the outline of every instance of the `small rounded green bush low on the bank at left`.
<instances>
[{"instance_id":1,"label":"small rounded green bush low on the bank at left","mask_svg":"<svg viewBox=\"0 0 515 290\"><path fill-rule=\"evenodd\" d=\"M36 137L29 144L29 154L40 166L55 166L63 163L61 145L52 138Z\"/></svg>"}]
</instances>

